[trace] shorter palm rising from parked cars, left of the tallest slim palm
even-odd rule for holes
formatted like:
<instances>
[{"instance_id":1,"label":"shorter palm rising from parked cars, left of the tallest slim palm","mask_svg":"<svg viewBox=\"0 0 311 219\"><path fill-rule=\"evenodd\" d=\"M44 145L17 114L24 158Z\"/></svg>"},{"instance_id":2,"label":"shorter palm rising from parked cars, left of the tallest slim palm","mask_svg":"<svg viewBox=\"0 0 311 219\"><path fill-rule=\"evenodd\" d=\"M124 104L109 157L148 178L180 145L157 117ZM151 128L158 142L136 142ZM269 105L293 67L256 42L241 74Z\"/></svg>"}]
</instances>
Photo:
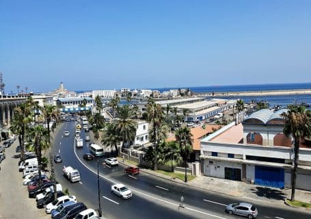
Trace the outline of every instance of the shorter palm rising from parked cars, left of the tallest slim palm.
<instances>
[{"instance_id":1,"label":"shorter palm rising from parked cars, left of the tallest slim palm","mask_svg":"<svg viewBox=\"0 0 311 219\"><path fill-rule=\"evenodd\" d=\"M33 140L34 151L38 157L39 168L39 184L41 183L41 170L42 170L42 149L49 147L48 130L42 125L35 125L29 129L29 137Z\"/></svg>"}]
</instances>

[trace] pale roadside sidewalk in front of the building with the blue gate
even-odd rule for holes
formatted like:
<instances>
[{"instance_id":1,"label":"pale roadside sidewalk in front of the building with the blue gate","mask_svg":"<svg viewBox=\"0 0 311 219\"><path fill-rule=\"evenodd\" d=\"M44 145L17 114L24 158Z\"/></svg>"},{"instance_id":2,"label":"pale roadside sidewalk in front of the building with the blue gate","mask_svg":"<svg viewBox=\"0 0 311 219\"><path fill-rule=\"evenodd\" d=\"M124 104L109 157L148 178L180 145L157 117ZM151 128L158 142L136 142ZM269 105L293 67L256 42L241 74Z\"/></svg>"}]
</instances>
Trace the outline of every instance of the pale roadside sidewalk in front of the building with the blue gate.
<instances>
[{"instance_id":1,"label":"pale roadside sidewalk in front of the building with the blue gate","mask_svg":"<svg viewBox=\"0 0 311 219\"><path fill-rule=\"evenodd\" d=\"M133 166L133 164L123 162L122 158L118 157L118 160L121 164L126 166ZM157 177L161 177L163 179L167 179L170 181L174 181L176 183L181 183L183 185L193 186L195 188L200 188L202 190L208 190L212 192L217 192L224 195L230 195L237 198L245 198L249 199L250 201L262 201L265 203L273 203L277 205L282 205L283 207L288 207L284 204L286 198L290 198L291 190L280 190L278 188L269 188L263 187L260 185L253 185L250 183L243 183L241 181L232 181L228 179L219 179L214 177L205 177L205 176L198 176L195 179L185 183L180 179L173 179L172 177L162 175L159 172L154 172L149 169L141 168L141 172L146 172L150 175L154 175ZM311 202L311 192L304 191L304 190L296 190L295 199L299 201L303 201L306 203Z\"/></svg>"}]
</instances>

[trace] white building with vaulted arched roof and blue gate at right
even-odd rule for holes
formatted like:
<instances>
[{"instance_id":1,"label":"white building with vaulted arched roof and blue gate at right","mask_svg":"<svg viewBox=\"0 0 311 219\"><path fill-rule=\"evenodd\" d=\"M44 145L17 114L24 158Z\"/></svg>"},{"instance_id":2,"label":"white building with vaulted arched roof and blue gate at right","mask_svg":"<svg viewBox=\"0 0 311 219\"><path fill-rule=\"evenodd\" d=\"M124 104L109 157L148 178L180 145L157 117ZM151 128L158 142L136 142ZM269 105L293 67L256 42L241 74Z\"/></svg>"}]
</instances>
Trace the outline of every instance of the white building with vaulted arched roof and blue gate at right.
<instances>
[{"instance_id":1,"label":"white building with vaulted arched roof and blue gate at right","mask_svg":"<svg viewBox=\"0 0 311 219\"><path fill-rule=\"evenodd\" d=\"M203 174L275 188L290 188L292 140L284 136L286 110L259 110L201 140ZM301 142L297 188L311 190L311 144Z\"/></svg>"}]
</instances>

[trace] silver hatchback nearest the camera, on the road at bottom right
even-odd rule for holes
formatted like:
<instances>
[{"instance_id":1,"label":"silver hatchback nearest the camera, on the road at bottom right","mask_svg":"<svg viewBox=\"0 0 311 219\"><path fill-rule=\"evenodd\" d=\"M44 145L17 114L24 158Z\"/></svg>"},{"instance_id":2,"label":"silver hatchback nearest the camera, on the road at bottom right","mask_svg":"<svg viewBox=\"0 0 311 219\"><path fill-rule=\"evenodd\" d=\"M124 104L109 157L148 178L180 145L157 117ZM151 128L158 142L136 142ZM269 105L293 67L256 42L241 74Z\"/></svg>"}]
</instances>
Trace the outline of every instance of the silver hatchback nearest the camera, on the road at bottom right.
<instances>
[{"instance_id":1,"label":"silver hatchback nearest the camera, on the road at bottom right","mask_svg":"<svg viewBox=\"0 0 311 219\"><path fill-rule=\"evenodd\" d=\"M249 219L256 218L258 215L256 207L249 203L233 203L227 205L226 212L228 214L246 216Z\"/></svg>"}]
</instances>

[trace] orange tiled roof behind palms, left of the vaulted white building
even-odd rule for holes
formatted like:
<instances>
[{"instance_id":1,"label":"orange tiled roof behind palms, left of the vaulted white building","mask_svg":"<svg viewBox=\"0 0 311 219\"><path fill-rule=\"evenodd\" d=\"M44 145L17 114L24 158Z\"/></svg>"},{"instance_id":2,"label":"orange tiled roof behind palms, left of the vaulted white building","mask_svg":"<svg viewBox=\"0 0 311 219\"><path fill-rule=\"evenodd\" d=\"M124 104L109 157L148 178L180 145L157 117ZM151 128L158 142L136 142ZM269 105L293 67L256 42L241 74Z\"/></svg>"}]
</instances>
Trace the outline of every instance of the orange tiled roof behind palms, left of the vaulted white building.
<instances>
[{"instance_id":1,"label":"orange tiled roof behind palms, left of the vaulted white building","mask_svg":"<svg viewBox=\"0 0 311 219\"><path fill-rule=\"evenodd\" d=\"M204 138L208 133L212 133L213 129L219 129L221 128L221 125L205 125L205 129L202 129L202 127L194 127L191 129L191 134L193 136L193 144L192 149L193 151L200 151L201 150L201 144L200 140ZM175 133L170 133L166 139L167 142L172 142L176 140Z\"/></svg>"}]
</instances>

